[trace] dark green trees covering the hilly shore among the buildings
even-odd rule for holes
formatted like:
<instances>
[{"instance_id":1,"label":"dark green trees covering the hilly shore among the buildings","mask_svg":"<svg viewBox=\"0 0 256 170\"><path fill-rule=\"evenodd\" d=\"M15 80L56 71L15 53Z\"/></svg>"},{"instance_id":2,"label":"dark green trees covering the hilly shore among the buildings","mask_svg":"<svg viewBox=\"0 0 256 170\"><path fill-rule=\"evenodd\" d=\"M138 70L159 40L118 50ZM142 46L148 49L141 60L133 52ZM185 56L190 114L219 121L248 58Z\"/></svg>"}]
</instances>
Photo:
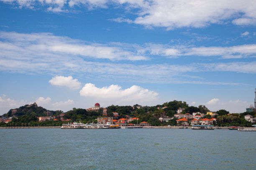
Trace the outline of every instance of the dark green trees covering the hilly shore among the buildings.
<instances>
[{"instance_id":1,"label":"dark green trees covering the hilly shore among the buildings","mask_svg":"<svg viewBox=\"0 0 256 170\"><path fill-rule=\"evenodd\" d=\"M166 126L166 125L177 125L177 118L174 114L177 113L178 108L184 108L182 114L193 112L200 112L206 114L208 110L205 105L200 105L198 107L189 106L186 102L182 101L171 101L165 102L162 105L156 106L143 106L136 104L133 106L118 106L110 105L107 107L107 115L113 116L113 112L118 112L119 116L114 117L115 120L127 117L138 117L138 120L133 120L130 123L139 124L140 122L148 122L152 126ZM248 122L244 119L245 115L252 115L256 117L256 112L243 112L243 113L233 113L230 114L227 110L218 110L216 112L218 115L213 116L218 121L214 123L217 126L244 126L250 127L253 123ZM39 122L38 117L47 116L51 114L55 117L54 120L46 120ZM63 114L64 120L61 121L60 114L63 114L61 110L46 110L43 107L38 107L36 103L31 105L24 105L16 109L11 109L6 114L1 117L13 117L8 123L0 122L0 126L61 126L63 123L81 121L82 123L97 122L97 117L103 117L103 110L100 109L99 112L87 112L87 110L82 108L73 108ZM168 122L161 122L159 117L162 116L174 117ZM212 118L211 115L205 115L202 118ZM189 125L192 119L188 119ZM179 122L182 123L182 122Z\"/></svg>"}]
</instances>

